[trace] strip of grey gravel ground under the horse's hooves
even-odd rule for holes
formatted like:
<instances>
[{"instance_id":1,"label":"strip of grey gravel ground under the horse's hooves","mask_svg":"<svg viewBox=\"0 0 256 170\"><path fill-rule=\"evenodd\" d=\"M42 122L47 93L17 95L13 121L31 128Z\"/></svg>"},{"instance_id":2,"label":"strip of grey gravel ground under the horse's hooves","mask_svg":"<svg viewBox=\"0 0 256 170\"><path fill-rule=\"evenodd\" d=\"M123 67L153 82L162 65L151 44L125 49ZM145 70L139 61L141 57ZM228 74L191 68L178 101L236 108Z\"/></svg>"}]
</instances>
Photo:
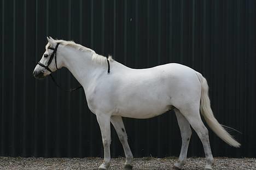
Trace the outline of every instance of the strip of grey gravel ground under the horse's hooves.
<instances>
[{"instance_id":1,"label":"strip of grey gravel ground under the horse's hooves","mask_svg":"<svg viewBox=\"0 0 256 170\"><path fill-rule=\"evenodd\" d=\"M133 169L172 169L177 157L136 158L133 162ZM122 169L125 159L123 157L112 159L110 169ZM0 169L97 169L102 163L98 157L80 158L35 158L35 157L0 157ZM203 169L205 158L191 157L183 169ZM234 159L227 157L216 157L213 169L237 170L237 169L256 169L256 159Z\"/></svg>"}]
</instances>

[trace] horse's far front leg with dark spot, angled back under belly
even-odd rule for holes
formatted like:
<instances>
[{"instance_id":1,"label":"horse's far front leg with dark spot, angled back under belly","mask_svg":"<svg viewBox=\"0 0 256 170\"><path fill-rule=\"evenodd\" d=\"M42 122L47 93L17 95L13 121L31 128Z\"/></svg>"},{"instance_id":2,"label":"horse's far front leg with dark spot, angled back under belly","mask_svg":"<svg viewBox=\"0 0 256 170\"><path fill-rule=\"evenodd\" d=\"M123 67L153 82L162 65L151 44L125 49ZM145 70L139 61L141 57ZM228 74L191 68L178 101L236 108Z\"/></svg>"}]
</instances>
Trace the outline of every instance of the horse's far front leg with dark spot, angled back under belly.
<instances>
[{"instance_id":1,"label":"horse's far front leg with dark spot, angled back under belly","mask_svg":"<svg viewBox=\"0 0 256 170\"><path fill-rule=\"evenodd\" d=\"M124 169L132 169L132 160L133 156L131 153L131 149L129 147L129 144L127 142L127 135L124 127L124 123L122 120L122 117L120 116L112 116L110 119L111 123L113 124L115 131L117 131L119 140L124 148L124 153L126 157Z\"/></svg>"}]
</instances>

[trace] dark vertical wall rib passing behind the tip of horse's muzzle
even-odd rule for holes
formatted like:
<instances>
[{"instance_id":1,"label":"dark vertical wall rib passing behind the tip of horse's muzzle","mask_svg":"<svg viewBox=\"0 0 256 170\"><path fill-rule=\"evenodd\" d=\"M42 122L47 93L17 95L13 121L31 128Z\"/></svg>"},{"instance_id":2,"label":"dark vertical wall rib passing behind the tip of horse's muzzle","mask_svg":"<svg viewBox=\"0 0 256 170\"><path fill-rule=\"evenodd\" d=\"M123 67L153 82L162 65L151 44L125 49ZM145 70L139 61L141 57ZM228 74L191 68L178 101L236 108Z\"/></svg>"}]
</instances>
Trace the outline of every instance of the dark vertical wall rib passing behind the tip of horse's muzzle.
<instances>
[{"instance_id":1,"label":"dark vertical wall rib passing behind the tip of horse's muzzle","mask_svg":"<svg viewBox=\"0 0 256 170\"><path fill-rule=\"evenodd\" d=\"M37 54L38 54L38 0L36 0L36 55L34 56L34 60L37 61ZM38 109L37 109L37 102L38 102L38 93L37 93L37 80L34 80L34 156L38 155L37 150L37 134L38 134Z\"/></svg>"}]
</instances>

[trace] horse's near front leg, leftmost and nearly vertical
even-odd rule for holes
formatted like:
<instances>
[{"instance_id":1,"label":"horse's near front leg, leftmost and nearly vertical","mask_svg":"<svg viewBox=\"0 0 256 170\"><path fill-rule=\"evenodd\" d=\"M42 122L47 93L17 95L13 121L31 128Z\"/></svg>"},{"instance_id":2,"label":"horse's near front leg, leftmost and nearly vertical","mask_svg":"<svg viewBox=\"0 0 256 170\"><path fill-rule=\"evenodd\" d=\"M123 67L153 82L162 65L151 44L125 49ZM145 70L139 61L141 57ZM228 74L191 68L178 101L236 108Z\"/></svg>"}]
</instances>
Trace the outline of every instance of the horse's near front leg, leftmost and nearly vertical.
<instances>
[{"instance_id":1,"label":"horse's near front leg, leftmost and nearly vertical","mask_svg":"<svg viewBox=\"0 0 256 170\"><path fill-rule=\"evenodd\" d=\"M104 160L98 169L109 169L110 166L110 143L111 143L111 136L110 136L110 117L104 114L96 114L97 121L100 125L101 129L101 136L102 136L102 143L104 147Z\"/></svg>"}]
</instances>

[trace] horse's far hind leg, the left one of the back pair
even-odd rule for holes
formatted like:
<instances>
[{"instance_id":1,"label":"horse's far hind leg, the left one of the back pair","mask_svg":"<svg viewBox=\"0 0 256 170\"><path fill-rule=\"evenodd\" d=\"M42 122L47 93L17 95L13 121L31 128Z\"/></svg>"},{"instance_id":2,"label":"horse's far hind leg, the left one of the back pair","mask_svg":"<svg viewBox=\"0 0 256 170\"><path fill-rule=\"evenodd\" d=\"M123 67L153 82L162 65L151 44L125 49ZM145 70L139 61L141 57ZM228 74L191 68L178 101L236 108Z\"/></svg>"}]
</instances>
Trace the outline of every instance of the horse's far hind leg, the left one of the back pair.
<instances>
[{"instance_id":1,"label":"horse's far hind leg, the left one of the back pair","mask_svg":"<svg viewBox=\"0 0 256 170\"><path fill-rule=\"evenodd\" d=\"M187 160L188 146L192 131L188 120L182 115L182 113L179 112L178 109L174 109L174 111L178 120L179 129L181 130L182 147L181 154L179 154L179 160L174 164L173 169L181 169Z\"/></svg>"}]
</instances>

